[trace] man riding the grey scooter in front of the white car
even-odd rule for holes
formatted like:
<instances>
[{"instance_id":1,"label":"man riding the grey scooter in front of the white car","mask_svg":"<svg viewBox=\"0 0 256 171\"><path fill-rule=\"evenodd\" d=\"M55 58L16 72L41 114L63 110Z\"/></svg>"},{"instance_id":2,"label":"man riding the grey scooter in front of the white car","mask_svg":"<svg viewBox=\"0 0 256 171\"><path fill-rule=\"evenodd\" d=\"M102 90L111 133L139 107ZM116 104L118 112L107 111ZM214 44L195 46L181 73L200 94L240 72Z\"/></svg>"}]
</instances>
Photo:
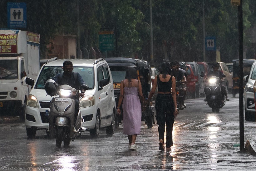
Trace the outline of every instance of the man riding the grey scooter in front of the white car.
<instances>
[{"instance_id":1,"label":"man riding the grey scooter in front of the white car","mask_svg":"<svg viewBox=\"0 0 256 171\"><path fill-rule=\"evenodd\" d=\"M64 61L63 62L63 73L57 74L53 80L58 84L58 85L64 85L67 84L73 88L80 87L81 85L85 84L83 81L83 78L78 72L73 72L73 63L71 61ZM76 98L74 98L76 105L75 105L75 124L76 124L76 119L79 111L79 98L84 97L85 90L82 89L81 93L79 93L79 96L77 95ZM75 127L74 127L74 132L77 132Z\"/></svg>"}]
</instances>

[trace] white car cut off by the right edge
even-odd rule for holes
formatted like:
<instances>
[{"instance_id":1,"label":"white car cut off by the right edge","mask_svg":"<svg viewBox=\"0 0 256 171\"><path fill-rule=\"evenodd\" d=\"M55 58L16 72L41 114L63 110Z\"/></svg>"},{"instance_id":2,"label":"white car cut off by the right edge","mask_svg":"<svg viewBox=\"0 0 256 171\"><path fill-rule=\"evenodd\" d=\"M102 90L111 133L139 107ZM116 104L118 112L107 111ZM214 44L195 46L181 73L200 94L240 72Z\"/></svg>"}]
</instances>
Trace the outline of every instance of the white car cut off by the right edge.
<instances>
[{"instance_id":1,"label":"white car cut off by the right edge","mask_svg":"<svg viewBox=\"0 0 256 171\"><path fill-rule=\"evenodd\" d=\"M256 80L256 61L254 61L249 76L244 76L247 82L244 88L244 116L246 121L255 121L254 82Z\"/></svg>"}]
</instances>

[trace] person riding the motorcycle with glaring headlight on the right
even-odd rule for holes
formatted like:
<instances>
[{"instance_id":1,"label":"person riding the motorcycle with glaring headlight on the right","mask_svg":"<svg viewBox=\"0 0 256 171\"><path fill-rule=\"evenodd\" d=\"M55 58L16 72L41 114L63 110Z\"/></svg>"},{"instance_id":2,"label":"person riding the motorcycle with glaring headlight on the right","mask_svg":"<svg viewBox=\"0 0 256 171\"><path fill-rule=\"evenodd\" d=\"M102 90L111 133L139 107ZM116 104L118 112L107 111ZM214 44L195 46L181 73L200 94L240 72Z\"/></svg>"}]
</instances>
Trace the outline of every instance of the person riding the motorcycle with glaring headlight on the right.
<instances>
[{"instance_id":1,"label":"person riding the motorcycle with glaring headlight on the right","mask_svg":"<svg viewBox=\"0 0 256 171\"><path fill-rule=\"evenodd\" d=\"M212 65L212 68L213 68L213 71L210 71L207 75L207 78L209 78L210 76L216 76L216 77L219 77L220 79L226 77L220 70L219 70L219 64L218 63L214 63ZM226 101L229 101L229 98L228 98L228 94L227 94L227 91L226 91L226 88L225 86L223 85L223 82L220 83L220 90L221 92L225 95L226 97ZM205 92L205 91L204 91ZM206 99L204 99L204 101L207 101Z\"/></svg>"}]
</instances>

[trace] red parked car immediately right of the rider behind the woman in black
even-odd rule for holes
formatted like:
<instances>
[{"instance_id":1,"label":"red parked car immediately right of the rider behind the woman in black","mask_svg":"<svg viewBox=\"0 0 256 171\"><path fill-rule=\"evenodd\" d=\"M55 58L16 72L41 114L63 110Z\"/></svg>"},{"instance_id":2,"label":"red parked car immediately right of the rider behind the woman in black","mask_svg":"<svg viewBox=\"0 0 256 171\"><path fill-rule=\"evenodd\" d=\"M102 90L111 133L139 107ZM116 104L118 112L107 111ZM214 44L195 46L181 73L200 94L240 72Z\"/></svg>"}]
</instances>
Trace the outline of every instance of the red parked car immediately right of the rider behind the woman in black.
<instances>
[{"instance_id":1,"label":"red parked car immediately right of the rider behind the woman in black","mask_svg":"<svg viewBox=\"0 0 256 171\"><path fill-rule=\"evenodd\" d=\"M185 71L188 75L188 78L187 78L187 96L189 97L192 97L192 98L195 98L196 95L195 95L195 75L194 75L194 71L191 67L190 64L186 64L185 66Z\"/></svg>"}]
</instances>

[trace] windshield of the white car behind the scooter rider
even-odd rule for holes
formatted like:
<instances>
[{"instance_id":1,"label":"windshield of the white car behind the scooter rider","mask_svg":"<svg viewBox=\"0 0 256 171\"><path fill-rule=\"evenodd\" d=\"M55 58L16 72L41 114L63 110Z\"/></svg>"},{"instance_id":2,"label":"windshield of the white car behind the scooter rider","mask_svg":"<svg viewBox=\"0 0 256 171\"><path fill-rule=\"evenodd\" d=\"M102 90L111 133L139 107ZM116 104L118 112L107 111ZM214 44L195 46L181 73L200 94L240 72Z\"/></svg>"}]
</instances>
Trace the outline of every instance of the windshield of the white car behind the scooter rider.
<instances>
[{"instance_id":1,"label":"windshield of the white car behind the scooter rider","mask_svg":"<svg viewBox=\"0 0 256 171\"><path fill-rule=\"evenodd\" d=\"M93 67L82 67L82 66L73 66L74 72L78 72L83 78L85 84L89 87L89 89L94 88L94 71ZM52 79L58 73L63 72L62 66L44 66L42 69L37 84L35 86L36 89L44 89L45 82L49 79Z\"/></svg>"}]
</instances>

